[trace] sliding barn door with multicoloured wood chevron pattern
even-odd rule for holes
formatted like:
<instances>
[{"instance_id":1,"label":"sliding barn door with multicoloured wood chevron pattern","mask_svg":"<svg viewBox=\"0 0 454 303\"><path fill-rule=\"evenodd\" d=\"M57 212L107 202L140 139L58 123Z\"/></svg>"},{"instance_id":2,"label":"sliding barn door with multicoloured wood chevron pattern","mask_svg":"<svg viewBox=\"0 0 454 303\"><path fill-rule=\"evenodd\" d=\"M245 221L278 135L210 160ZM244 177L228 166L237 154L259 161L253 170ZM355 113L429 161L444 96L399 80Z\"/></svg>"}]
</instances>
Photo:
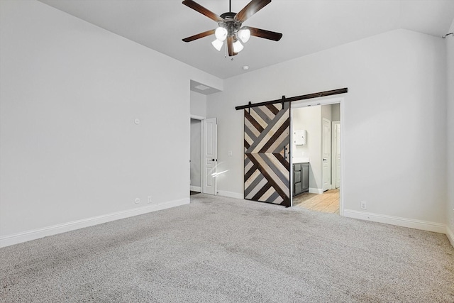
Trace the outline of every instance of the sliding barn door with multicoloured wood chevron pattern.
<instances>
[{"instance_id":1,"label":"sliding barn door with multicoloured wood chevron pattern","mask_svg":"<svg viewBox=\"0 0 454 303\"><path fill-rule=\"evenodd\" d=\"M291 206L290 103L244 110L244 197Z\"/></svg>"}]
</instances>

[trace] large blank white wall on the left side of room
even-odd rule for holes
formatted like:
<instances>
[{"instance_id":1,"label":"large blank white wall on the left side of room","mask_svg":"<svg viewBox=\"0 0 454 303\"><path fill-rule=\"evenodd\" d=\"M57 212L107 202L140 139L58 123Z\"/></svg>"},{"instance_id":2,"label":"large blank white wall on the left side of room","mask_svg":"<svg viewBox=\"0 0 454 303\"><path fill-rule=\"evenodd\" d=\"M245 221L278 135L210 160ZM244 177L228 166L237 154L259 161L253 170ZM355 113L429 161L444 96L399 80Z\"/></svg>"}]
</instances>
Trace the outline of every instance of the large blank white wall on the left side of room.
<instances>
[{"instance_id":1,"label":"large blank white wall on the left side of room","mask_svg":"<svg viewBox=\"0 0 454 303\"><path fill-rule=\"evenodd\" d=\"M0 5L0 245L189 202L190 80L222 80L41 2Z\"/></svg>"}]
</instances>

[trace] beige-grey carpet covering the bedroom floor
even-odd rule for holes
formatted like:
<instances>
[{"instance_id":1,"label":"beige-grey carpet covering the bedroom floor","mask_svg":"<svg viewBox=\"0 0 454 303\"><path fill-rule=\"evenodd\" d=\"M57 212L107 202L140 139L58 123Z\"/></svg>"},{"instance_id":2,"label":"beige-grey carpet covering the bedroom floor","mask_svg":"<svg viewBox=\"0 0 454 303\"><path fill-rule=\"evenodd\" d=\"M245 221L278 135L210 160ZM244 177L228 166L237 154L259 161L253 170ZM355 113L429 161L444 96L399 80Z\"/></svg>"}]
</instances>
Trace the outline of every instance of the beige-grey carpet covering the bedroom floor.
<instances>
[{"instance_id":1,"label":"beige-grey carpet covering the bedroom floor","mask_svg":"<svg viewBox=\"0 0 454 303\"><path fill-rule=\"evenodd\" d=\"M0 249L1 302L454 302L445 235L196 194Z\"/></svg>"}]
</instances>

